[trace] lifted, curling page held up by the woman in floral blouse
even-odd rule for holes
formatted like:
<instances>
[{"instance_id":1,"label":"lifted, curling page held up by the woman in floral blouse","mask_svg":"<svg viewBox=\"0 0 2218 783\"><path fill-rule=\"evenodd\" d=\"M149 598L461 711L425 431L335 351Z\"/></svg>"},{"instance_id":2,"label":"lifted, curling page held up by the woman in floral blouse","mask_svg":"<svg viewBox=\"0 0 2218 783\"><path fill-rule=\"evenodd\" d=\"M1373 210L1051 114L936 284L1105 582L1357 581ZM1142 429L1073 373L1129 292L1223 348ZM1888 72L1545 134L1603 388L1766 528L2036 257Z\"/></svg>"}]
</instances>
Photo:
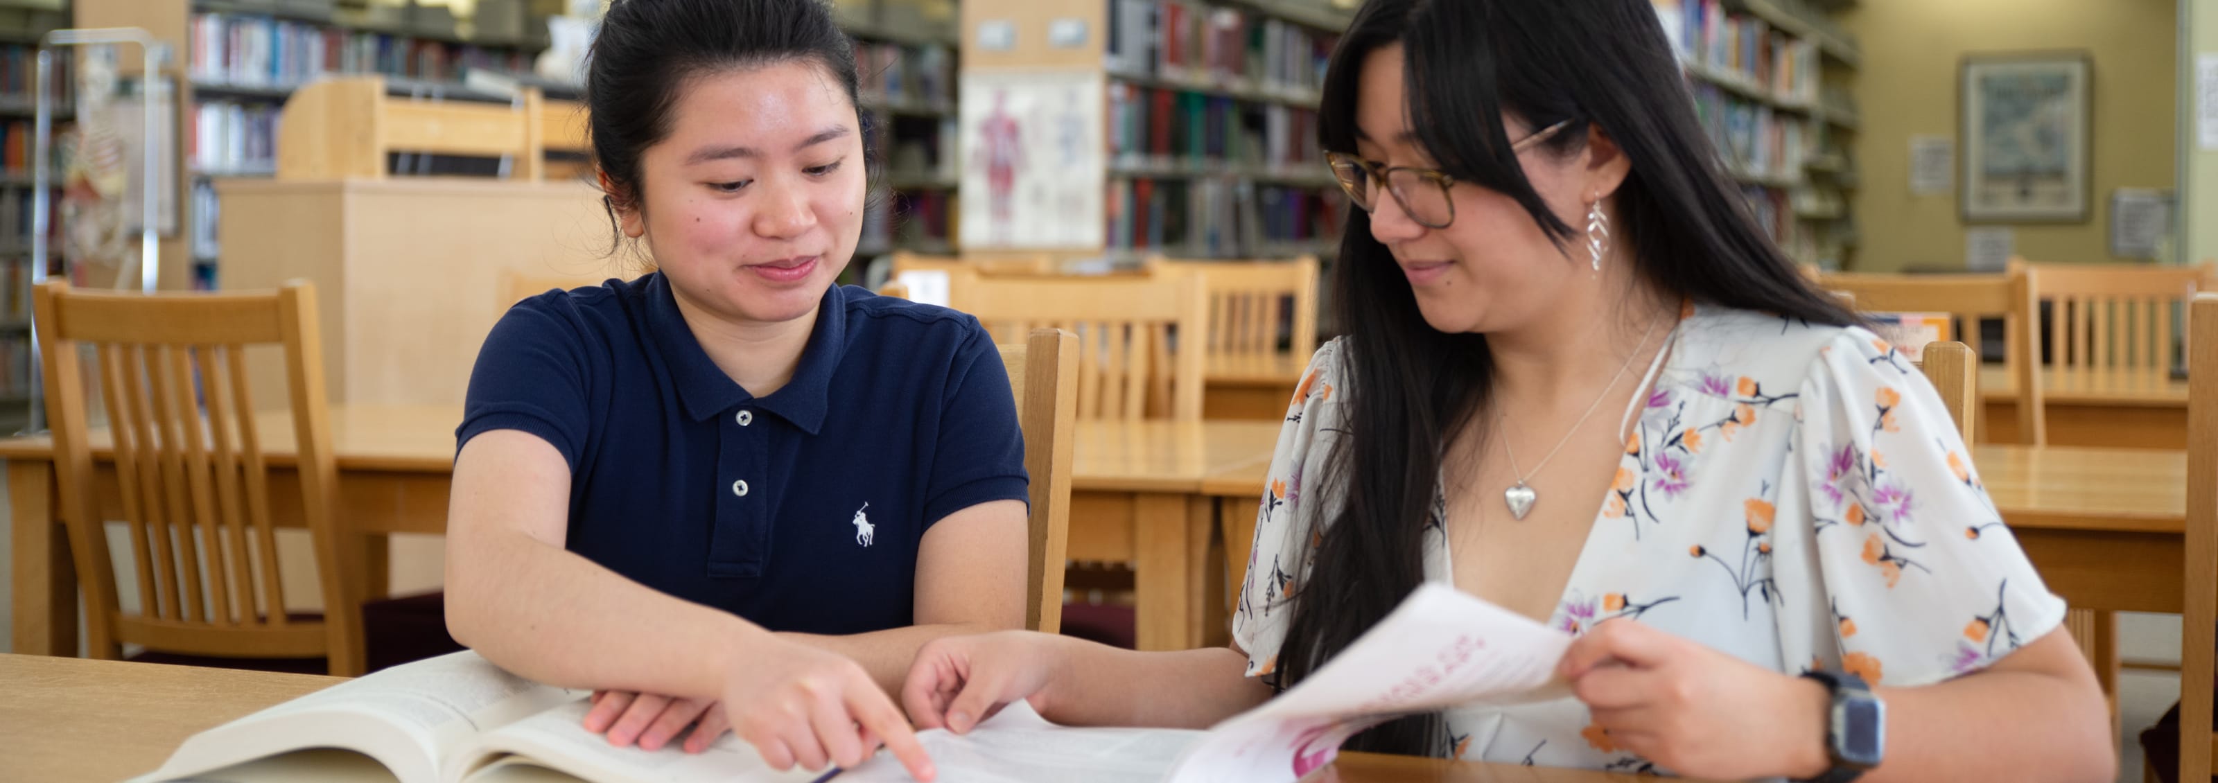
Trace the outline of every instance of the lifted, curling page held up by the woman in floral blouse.
<instances>
[{"instance_id":1,"label":"lifted, curling page held up by the woman in floral blouse","mask_svg":"<svg viewBox=\"0 0 2218 783\"><path fill-rule=\"evenodd\" d=\"M1393 716L1564 699L1555 665L1566 648L1561 630L1424 583L1300 685L1211 728L1167 781L1295 781Z\"/></svg>"}]
</instances>

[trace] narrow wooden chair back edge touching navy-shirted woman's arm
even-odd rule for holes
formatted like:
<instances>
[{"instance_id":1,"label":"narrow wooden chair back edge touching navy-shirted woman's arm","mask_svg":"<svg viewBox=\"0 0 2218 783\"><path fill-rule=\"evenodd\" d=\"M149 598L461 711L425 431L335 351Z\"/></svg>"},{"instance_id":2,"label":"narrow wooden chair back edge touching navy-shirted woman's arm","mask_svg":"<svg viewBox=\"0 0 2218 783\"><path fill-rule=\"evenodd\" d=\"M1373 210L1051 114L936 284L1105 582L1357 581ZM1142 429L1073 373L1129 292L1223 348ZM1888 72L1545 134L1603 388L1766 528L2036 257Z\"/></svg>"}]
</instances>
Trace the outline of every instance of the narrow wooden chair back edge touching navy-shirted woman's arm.
<instances>
[{"instance_id":1,"label":"narrow wooden chair back edge touching navy-shirted woman's arm","mask_svg":"<svg viewBox=\"0 0 2218 783\"><path fill-rule=\"evenodd\" d=\"M1078 335L1036 328L1022 344L1003 344L1025 430L1031 475L1031 566L1025 570L1025 628L1062 628L1062 563L1071 526L1071 461L1078 430Z\"/></svg>"}]
</instances>

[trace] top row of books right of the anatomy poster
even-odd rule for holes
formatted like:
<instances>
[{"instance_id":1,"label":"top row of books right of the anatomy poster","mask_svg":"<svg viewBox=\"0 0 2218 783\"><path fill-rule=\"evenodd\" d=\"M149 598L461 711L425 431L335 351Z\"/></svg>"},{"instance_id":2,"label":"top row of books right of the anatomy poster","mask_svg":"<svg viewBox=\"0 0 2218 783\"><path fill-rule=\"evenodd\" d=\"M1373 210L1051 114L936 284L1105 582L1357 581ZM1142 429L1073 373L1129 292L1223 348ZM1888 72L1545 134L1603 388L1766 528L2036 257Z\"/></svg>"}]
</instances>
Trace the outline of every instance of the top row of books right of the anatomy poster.
<instances>
[{"instance_id":1,"label":"top row of books right of the anatomy poster","mask_svg":"<svg viewBox=\"0 0 2218 783\"><path fill-rule=\"evenodd\" d=\"M1193 0L1109 0L1111 73L1315 95L1337 35Z\"/></svg>"}]
</instances>

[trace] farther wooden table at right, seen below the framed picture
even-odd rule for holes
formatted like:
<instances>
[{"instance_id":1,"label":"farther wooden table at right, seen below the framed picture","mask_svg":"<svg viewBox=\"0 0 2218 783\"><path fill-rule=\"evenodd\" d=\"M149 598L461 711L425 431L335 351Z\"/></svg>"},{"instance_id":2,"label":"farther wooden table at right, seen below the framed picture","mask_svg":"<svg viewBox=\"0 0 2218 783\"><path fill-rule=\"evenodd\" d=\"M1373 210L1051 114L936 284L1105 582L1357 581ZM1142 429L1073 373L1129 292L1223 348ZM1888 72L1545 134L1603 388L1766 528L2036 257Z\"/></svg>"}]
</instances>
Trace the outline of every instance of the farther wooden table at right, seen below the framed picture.
<instances>
[{"instance_id":1,"label":"farther wooden table at right, seen below the framed picture","mask_svg":"<svg viewBox=\"0 0 2218 783\"><path fill-rule=\"evenodd\" d=\"M2018 441L2018 390L2001 366L1978 370L1981 439ZM2052 446L2187 448L2187 382L2149 373L2041 370Z\"/></svg>"}]
</instances>

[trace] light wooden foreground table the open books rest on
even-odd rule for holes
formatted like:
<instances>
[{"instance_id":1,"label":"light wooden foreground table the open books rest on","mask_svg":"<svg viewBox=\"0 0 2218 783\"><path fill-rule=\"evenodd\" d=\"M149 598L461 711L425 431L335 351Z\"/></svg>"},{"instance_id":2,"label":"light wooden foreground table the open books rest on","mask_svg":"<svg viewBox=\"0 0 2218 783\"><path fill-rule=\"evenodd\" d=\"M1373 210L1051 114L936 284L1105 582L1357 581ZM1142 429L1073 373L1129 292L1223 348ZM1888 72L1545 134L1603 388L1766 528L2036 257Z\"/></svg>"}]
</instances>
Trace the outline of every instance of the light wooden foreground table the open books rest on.
<instances>
[{"instance_id":1,"label":"light wooden foreground table the open books rest on","mask_svg":"<svg viewBox=\"0 0 2218 783\"><path fill-rule=\"evenodd\" d=\"M153 772L202 730L339 683L337 677L0 654L0 772L106 783ZM1311 781L1604 783L1630 774L1344 754Z\"/></svg>"}]
</instances>

